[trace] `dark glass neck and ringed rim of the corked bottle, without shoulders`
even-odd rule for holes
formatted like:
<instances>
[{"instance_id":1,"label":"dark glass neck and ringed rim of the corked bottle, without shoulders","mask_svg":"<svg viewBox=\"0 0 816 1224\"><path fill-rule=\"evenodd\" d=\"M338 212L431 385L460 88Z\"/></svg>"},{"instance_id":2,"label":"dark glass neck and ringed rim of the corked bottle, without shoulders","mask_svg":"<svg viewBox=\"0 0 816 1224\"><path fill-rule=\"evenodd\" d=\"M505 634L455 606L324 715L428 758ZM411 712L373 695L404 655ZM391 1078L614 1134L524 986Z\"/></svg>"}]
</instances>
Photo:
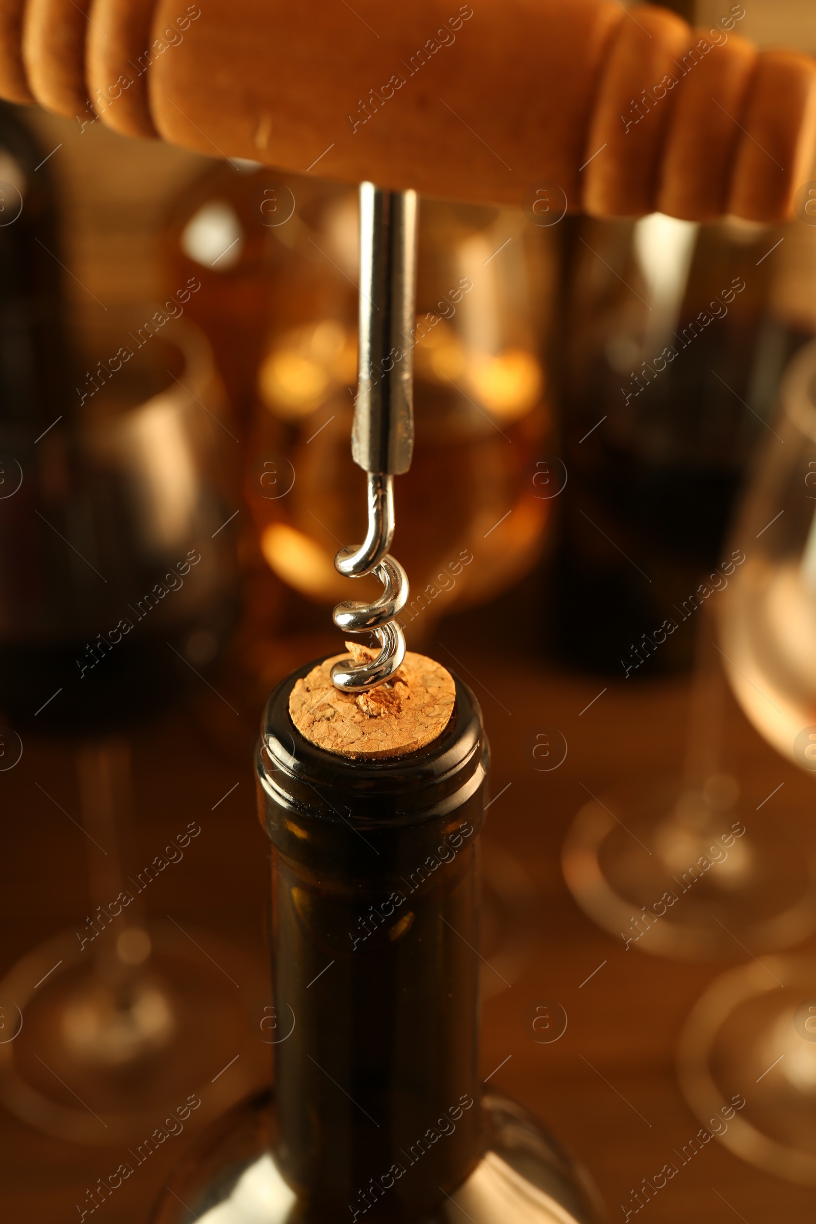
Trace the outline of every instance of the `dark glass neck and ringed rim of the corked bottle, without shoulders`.
<instances>
[{"instance_id":1,"label":"dark glass neck and ringed rim of the corked bottle, without shoulders","mask_svg":"<svg viewBox=\"0 0 816 1224\"><path fill-rule=\"evenodd\" d=\"M478 1080L477 840L488 761L456 681L410 756L307 743L281 684L258 782L273 842L276 1160L303 1219L412 1220L486 1142Z\"/></svg>"}]
</instances>

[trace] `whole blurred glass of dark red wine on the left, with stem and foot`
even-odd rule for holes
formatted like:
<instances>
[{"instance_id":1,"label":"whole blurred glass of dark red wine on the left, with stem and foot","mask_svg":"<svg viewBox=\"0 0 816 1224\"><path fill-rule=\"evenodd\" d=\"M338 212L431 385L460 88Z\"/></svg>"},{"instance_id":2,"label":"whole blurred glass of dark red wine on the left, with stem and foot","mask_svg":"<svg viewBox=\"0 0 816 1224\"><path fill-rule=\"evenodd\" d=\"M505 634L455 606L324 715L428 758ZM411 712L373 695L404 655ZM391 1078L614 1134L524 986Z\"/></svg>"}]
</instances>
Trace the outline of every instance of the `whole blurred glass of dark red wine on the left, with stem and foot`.
<instances>
[{"instance_id":1,"label":"whole blurred glass of dark red wine on the left, with stem and foot","mask_svg":"<svg viewBox=\"0 0 816 1224\"><path fill-rule=\"evenodd\" d=\"M22 416L0 425L17 481L0 499L0 707L17 736L76 744L91 884L81 930L0 983L22 1024L0 1043L0 1099L89 1143L139 1136L168 1093L209 1088L247 1028L235 983L204 967L190 929L152 923L143 907L165 856L201 827L185 813L179 845L148 867L132 846L128 732L203 682L237 613L209 345L186 321L157 332L127 333L44 432ZM50 792L60 780L43 781ZM215 942L207 936L215 958L237 966ZM246 1061L204 1111L252 1084Z\"/></svg>"}]
</instances>

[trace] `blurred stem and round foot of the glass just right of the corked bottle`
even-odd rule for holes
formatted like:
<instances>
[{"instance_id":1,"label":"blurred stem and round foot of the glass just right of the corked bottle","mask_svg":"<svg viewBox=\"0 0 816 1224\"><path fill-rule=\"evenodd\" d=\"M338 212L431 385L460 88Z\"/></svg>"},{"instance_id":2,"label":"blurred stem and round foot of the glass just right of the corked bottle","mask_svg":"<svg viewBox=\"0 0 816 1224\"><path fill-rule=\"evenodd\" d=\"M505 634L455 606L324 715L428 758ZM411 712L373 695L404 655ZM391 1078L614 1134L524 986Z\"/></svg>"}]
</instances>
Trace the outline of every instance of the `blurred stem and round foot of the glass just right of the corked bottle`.
<instances>
[{"instance_id":1,"label":"blurred stem and round foot of the glass just right of the corked bottle","mask_svg":"<svg viewBox=\"0 0 816 1224\"><path fill-rule=\"evenodd\" d=\"M564 878L626 950L703 961L792 947L816 929L816 846L784 791L768 807L746 803L749 780L728 764L714 618L708 605L695 614L681 772L587 793L564 840Z\"/></svg>"}]
</instances>

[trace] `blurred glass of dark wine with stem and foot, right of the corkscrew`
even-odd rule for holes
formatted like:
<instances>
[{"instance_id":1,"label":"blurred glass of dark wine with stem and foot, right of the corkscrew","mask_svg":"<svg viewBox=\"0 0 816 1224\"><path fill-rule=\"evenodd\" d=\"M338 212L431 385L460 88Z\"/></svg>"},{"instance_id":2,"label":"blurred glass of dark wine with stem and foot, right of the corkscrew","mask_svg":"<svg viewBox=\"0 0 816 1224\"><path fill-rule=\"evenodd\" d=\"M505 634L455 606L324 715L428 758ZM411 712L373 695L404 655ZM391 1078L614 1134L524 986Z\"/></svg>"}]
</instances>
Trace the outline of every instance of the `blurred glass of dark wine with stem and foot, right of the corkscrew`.
<instances>
[{"instance_id":1,"label":"blurred glass of dark wine with stem and foot, right of the corkscrew","mask_svg":"<svg viewBox=\"0 0 816 1224\"><path fill-rule=\"evenodd\" d=\"M564 597L618 635L590 650L601 663L614 656L628 683L677 668L692 628L696 663L680 772L587 794L563 868L579 905L626 947L689 960L739 956L740 941L788 947L816 925L812 840L790 853L793 814L785 841L770 809L746 808L728 766L712 644L711 608L745 568L723 543L729 506L757 435L776 443L767 416L782 364L812 323L788 256L768 257L774 239L767 226L655 213L587 223L577 244ZM603 586L601 605L587 581ZM595 640L568 622L568 636Z\"/></svg>"}]
</instances>

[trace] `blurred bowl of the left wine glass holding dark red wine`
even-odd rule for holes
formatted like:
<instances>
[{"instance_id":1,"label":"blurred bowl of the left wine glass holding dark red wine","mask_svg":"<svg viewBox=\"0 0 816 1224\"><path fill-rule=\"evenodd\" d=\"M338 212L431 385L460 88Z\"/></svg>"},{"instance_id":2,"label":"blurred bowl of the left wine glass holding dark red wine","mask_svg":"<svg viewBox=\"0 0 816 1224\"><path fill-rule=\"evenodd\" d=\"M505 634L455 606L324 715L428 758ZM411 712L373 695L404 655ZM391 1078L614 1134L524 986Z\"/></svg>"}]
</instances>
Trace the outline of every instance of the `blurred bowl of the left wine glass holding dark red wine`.
<instances>
[{"instance_id":1,"label":"blurred bowl of the left wine glass holding dark red wine","mask_svg":"<svg viewBox=\"0 0 816 1224\"><path fill-rule=\"evenodd\" d=\"M230 498L202 408L219 410L218 382L201 333L175 335L153 337L44 436L0 427L22 472L0 502L0 706L16 726L127 726L231 628Z\"/></svg>"}]
</instances>

